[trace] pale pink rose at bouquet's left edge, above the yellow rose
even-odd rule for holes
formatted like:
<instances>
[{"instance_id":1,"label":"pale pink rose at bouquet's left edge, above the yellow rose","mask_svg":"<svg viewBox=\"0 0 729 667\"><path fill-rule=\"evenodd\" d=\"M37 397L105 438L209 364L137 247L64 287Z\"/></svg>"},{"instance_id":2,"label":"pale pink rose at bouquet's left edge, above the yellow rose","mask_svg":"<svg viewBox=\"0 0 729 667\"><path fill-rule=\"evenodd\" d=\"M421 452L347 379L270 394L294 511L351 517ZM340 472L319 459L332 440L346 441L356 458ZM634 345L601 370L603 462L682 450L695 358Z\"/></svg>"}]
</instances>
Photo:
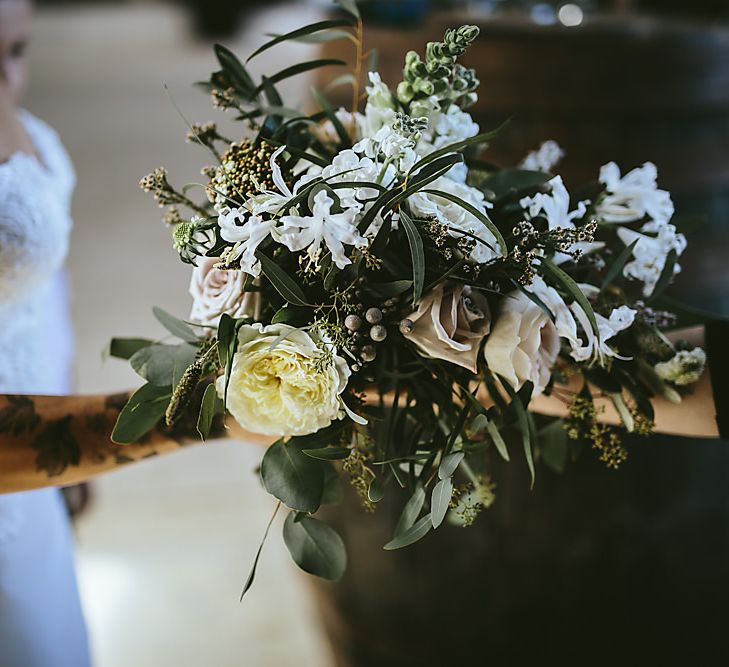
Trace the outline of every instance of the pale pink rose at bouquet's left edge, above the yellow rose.
<instances>
[{"instance_id":1,"label":"pale pink rose at bouquet's left edge, above the yellow rose","mask_svg":"<svg viewBox=\"0 0 729 667\"><path fill-rule=\"evenodd\" d=\"M245 292L243 271L216 269L217 257L201 257L192 272L190 319L198 324L217 326L220 316L258 318L261 297L258 292Z\"/></svg>"}]
</instances>

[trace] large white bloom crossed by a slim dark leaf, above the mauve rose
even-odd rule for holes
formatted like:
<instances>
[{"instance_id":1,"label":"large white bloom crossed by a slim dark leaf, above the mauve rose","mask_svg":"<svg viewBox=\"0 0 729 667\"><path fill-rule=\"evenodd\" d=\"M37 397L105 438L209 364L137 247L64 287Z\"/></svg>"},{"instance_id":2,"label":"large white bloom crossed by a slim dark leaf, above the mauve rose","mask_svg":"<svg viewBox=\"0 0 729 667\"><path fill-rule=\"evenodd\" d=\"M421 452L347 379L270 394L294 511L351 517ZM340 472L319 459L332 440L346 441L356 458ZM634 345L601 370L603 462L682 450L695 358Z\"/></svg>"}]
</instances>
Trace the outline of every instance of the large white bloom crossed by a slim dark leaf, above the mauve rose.
<instances>
[{"instance_id":1,"label":"large white bloom crossed by a slim dark leaf, above the mauve rose","mask_svg":"<svg viewBox=\"0 0 729 667\"><path fill-rule=\"evenodd\" d=\"M447 176L441 176L428 185L429 190L441 190L448 194L463 199L479 211L486 213L493 204L487 201L480 190L459 183ZM465 231L476 236L476 242L471 259L480 264L485 264L496 257L501 256L501 248L494 235L474 215L466 211L462 206L449 199L426 192L415 192L408 198L412 211L415 215L423 217L434 217L438 222L450 228L449 234L455 238L463 237L458 231ZM466 237L470 238L470 237Z\"/></svg>"}]
</instances>

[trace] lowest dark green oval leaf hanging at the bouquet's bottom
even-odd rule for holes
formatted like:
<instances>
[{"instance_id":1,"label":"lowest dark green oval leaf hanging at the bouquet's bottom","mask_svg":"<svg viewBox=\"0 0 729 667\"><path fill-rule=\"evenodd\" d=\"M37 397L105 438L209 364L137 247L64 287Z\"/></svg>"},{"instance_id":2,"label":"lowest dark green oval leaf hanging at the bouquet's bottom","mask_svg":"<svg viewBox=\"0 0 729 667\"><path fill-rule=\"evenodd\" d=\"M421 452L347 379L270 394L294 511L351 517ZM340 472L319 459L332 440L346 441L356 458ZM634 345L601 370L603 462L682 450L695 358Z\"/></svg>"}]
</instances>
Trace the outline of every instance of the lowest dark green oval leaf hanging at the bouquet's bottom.
<instances>
[{"instance_id":1,"label":"lowest dark green oval leaf hanging at the bouquet's bottom","mask_svg":"<svg viewBox=\"0 0 729 667\"><path fill-rule=\"evenodd\" d=\"M290 513L284 522L284 542L304 572L338 581L347 569L344 542L331 526L310 516Z\"/></svg>"}]
</instances>

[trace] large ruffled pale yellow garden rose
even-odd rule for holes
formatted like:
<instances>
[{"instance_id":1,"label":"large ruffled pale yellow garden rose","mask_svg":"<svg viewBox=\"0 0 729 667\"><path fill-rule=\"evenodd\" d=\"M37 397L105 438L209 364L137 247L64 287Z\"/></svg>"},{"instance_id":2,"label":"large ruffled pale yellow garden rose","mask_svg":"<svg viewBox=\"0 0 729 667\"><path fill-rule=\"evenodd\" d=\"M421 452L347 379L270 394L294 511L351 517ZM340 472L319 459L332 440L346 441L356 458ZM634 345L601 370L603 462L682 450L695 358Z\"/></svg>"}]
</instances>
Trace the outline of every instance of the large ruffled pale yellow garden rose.
<instances>
[{"instance_id":1,"label":"large ruffled pale yellow garden rose","mask_svg":"<svg viewBox=\"0 0 729 667\"><path fill-rule=\"evenodd\" d=\"M273 436L308 435L342 418L349 366L336 353L317 367L319 342L286 324L243 325L233 357L227 407L244 428ZM218 394L225 377L218 378Z\"/></svg>"}]
</instances>

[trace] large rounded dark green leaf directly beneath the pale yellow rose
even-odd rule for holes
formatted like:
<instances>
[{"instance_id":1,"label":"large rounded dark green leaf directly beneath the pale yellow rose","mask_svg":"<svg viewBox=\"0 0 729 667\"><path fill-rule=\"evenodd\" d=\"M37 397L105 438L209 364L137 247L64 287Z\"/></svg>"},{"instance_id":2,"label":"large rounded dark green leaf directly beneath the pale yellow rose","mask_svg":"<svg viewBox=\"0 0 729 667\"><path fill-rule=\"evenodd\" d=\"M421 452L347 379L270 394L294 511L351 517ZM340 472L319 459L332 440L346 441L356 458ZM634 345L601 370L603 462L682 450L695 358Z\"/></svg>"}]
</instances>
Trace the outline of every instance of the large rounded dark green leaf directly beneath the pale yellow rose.
<instances>
[{"instance_id":1,"label":"large rounded dark green leaf directly beneath the pale yellow rose","mask_svg":"<svg viewBox=\"0 0 729 667\"><path fill-rule=\"evenodd\" d=\"M286 507L302 512L319 509L324 470L297 445L283 440L271 445L261 462L261 477L266 491Z\"/></svg>"}]
</instances>

